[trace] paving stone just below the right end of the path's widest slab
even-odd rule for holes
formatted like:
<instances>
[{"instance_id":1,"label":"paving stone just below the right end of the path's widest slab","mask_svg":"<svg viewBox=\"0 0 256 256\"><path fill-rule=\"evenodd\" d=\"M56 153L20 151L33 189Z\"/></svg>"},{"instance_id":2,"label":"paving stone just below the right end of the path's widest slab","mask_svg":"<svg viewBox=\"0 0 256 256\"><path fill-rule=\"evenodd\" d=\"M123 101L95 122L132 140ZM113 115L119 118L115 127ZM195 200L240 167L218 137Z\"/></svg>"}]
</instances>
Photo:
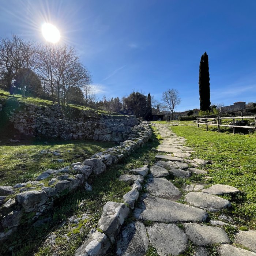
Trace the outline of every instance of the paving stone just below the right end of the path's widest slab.
<instances>
[{"instance_id":1,"label":"paving stone just below the right end of the path's widest slab","mask_svg":"<svg viewBox=\"0 0 256 256\"><path fill-rule=\"evenodd\" d=\"M226 232L219 227L210 227L197 223L184 223L184 228L189 240L198 246L231 242Z\"/></svg>"}]
</instances>

